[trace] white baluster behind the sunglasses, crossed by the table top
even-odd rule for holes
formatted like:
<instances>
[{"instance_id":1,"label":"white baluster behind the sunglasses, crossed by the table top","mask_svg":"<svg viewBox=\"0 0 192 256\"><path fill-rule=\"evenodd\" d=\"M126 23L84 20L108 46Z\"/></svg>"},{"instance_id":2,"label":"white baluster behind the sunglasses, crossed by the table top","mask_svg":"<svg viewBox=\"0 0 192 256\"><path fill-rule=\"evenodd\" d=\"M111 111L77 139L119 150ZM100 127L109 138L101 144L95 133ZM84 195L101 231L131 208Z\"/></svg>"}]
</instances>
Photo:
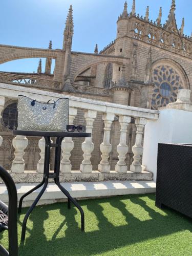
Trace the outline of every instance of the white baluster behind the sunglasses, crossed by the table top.
<instances>
[{"instance_id":1,"label":"white baluster behind the sunglasses, crossed by the table top","mask_svg":"<svg viewBox=\"0 0 192 256\"><path fill-rule=\"evenodd\" d=\"M75 116L77 115L77 109L69 108L69 124L73 124ZM62 150L62 160L60 162L60 171L61 173L70 173L71 172L71 151L74 148L74 142L71 137L66 137L63 139L61 143L61 150Z\"/></svg>"}]
</instances>

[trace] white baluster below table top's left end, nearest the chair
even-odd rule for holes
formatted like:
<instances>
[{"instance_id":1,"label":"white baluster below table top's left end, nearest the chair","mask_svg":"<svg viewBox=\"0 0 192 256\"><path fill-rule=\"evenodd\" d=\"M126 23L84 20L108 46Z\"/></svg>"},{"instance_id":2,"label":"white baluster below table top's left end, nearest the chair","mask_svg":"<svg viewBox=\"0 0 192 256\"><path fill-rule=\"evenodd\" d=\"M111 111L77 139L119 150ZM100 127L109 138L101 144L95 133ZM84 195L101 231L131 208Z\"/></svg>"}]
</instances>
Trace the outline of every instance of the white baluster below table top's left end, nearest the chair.
<instances>
[{"instance_id":1,"label":"white baluster below table top's left end, nearest the chair","mask_svg":"<svg viewBox=\"0 0 192 256\"><path fill-rule=\"evenodd\" d=\"M12 173L24 173L25 161L23 159L24 150L28 145L28 139L25 136L17 135L13 138L13 147L15 148L15 158L13 159L11 172Z\"/></svg>"}]
</instances>

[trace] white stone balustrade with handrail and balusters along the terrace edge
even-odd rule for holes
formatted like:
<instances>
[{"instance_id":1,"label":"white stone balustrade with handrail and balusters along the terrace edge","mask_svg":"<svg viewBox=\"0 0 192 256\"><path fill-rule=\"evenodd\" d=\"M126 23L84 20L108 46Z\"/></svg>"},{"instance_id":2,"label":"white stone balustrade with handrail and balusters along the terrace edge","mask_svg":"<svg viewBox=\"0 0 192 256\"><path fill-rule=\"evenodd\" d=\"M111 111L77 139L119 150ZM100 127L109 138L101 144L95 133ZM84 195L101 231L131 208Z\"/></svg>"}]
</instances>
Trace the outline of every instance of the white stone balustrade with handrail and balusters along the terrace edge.
<instances>
[{"instance_id":1,"label":"white stone balustrade with handrail and balusters along the terrace edge","mask_svg":"<svg viewBox=\"0 0 192 256\"><path fill-rule=\"evenodd\" d=\"M22 90L22 91L21 91ZM19 94L26 95L30 98L35 98L39 101L48 101L51 99L60 98L61 95L58 93L48 92L48 91L41 91L37 89L31 88L22 88L20 89L17 86L12 86L11 84L4 84L0 83L0 111L4 108L5 100L7 99L14 99L18 98ZM126 179L126 175L132 175L133 179L136 179L136 175L146 175L146 172L142 172L141 166L141 158L143 153L142 147L142 136L144 131L144 126L147 120L157 120L158 119L158 111L148 110L148 109L141 109L136 108L133 106L126 106L120 104L114 104L109 102L102 102L96 100L90 100L86 98L77 98L74 96L67 96L69 97L69 124L73 124L75 118L77 118L77 110L83 110L84 112L84 119L86 121L86 128L87 132L93 133L94 122L97 119L97 113L102 113L102 120L103 120L103 139L100 143L100 152L101 152L101 159L100 162L98 161L98 167L93 170L93 165L91 161L92 152L94 150L94 143L91 138L86 138L81 145L82 154L83 156L82 162L79 166L79 170L77 170L76 174L72 170L73 163L70 161L70 156L74 149L74 142L72 138L65 138L62 141L62 156L60 162L60 171L61 176L63 175L84 175L83 177L92 177L93 175L98 175L98 179L113 179L114 177ZM0 113L1 114L1 113ZM112 151L111 145L111 137L116 136L116 134L112 134L112 124L113 121L119 121L120 126L120 138L119 144L116 147L118 153L118 160L116 162L115 168L111 169L110 166L110 153ZM78 117L79 118L79 117ZM133 146L132 152L134 154L134 161L131 165L131 170L127 170L126 165L126 155L129 151L127 140L127 129L131 123L133 122L133 118L135 119L136 125L136 140L135 145ZM99 140L99 138L98 138ZM0 145L2 144L3 138L0 137ZM25 179L27 179L27 175L40 175L43 172L43 165L44 165L44 147L45 147L45 140L41 138L39 140L38 146L40 148L40 159L37 163L36 171L26 172L25 170L25 161L24 161L24 154L25 149L28 145L28 139L25 136L16 136L13 139L13 147L15 148L14 152L14 159L12 162L11 173L14 175L21 175L26 174ZM80 152L80 151L79 151ZM80 153L79 153L80 154ZM107 178L103 178L105 175ZM110 178L111 175L111 178ZM120 175L120 176L118 176ZM135 175L135 176L133 176ZM151 175L151 174L150 174ZM95 176L94 176L95 177ZM141 176L139 176L142 179ZM143 179L152 179L152 175L149 176L151 178L144 177ZM90 178L91 179L91 178ZM95 179L95 178L94 178ZM18 179L19 180L19 179ZM29 179L32 180L31 178ZM75 180L78 180L75 178ZM88 179L89 180L89 179ZM30 182L28 180L22 180L22 182ZM35 179L34 179L35 182Z\"/></svg>"}]
</instances>

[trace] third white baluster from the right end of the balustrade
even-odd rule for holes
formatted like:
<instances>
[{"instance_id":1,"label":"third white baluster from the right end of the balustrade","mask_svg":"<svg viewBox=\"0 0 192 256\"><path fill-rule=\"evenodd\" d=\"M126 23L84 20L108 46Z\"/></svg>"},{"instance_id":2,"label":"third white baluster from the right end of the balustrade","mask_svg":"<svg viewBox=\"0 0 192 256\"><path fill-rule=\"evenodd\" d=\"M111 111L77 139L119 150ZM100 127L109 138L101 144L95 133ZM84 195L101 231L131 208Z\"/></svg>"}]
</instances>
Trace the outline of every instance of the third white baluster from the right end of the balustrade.
<instances>
[{"instance_id":1,"label":"third white baluster from the right end of the balustrade","mask_svg":"<svg viewBox=\"0 0 192 256\"><path fill-rule=\"evenodd\" d=\"M109 164L109 154L112 150L112 145L110 144L110 132L111 125L115 118L115 115L112 113L103 114L103 122L104 122L104 134L103 134L103 142L100 144L101 161L98 165L98 170L102 173L110 172L110 164Z\"/></svg>"}]
</instances>

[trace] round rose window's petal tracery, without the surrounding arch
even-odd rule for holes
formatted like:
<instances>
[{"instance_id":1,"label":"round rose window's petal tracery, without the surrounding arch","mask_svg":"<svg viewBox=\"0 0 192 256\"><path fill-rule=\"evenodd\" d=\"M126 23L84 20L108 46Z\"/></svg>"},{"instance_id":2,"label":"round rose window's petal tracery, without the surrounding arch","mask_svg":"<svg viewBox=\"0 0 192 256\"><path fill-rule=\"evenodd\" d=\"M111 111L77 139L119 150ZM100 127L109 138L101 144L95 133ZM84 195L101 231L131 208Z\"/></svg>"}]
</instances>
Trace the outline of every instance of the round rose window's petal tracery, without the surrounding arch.
<instances>
[{"instance_id":1,"label":"round rose window's petal tracery, without the surrounding arch","mask_svg":"<svg viewBox=\"0 0 192 256\"><path fill-rule=\"evenodd\" d=\"M183 88L181 76L172 67L158 66L153 70L154 92L152 95L152 108L158 109L177 100L178 90Z\"/></svg>"}]
</instances>

